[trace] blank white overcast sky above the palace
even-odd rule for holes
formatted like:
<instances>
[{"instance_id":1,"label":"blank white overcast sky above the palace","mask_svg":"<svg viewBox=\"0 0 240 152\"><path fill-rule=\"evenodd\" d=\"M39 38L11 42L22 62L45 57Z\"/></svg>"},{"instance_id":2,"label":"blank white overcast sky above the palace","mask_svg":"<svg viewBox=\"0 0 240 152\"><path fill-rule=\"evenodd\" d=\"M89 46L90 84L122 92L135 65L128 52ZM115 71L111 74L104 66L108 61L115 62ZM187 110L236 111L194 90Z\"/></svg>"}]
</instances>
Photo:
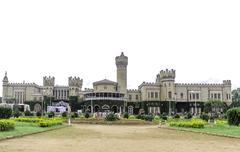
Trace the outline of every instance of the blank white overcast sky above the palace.
<instances>
[{"instance_id":1,"label":"blank white overcast sky above the palace","mask_svg":"<svg viewBox=\"0 0 240 152\"><path fill-rule=\"evenodd\" d=\"M232 80L240 86L239 0L1 0L0 77L35 82L116 81L129 58L128 88L176 69L176 82ZM0 95L2 87L0 87Z\"/></svg>"}]
</instances>

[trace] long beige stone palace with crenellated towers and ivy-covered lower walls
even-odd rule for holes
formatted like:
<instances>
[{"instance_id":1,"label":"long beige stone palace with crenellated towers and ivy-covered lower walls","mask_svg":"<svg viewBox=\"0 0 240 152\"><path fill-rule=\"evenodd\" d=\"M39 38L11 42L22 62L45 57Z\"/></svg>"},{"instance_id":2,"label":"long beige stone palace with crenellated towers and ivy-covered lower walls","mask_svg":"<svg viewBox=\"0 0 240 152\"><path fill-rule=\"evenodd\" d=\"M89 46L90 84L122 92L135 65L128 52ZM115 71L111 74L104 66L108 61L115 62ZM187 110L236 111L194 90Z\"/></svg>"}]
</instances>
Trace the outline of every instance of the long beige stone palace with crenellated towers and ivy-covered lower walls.
<instances>
[{"instance_id":1,"label":"long beige stone palace with crenellated towers and ivy-covered lower walls","mask_svg":"<svg viewBox=\"0 0 240 152\"><path fill-rule=\"evenodd\" d=\"M117 81L96 81L93 88L82 90L83 80L69 77L68 86L55 85L54 77L43 77L43 85L35 83L9 83L3 78L2 102L23 104L42 101L44 96L53 102L66 101L70 96L81 98L81 110L90 112L145 113L201 113L204 102L217 100L230 104L231 81L220 84L176 83L176 71L161 70L155 82L143 82L137 89L127 88L128 57L121 53L115 58ZM34 110L34 109L31 109Z\"/></svg>"}]
</instances>

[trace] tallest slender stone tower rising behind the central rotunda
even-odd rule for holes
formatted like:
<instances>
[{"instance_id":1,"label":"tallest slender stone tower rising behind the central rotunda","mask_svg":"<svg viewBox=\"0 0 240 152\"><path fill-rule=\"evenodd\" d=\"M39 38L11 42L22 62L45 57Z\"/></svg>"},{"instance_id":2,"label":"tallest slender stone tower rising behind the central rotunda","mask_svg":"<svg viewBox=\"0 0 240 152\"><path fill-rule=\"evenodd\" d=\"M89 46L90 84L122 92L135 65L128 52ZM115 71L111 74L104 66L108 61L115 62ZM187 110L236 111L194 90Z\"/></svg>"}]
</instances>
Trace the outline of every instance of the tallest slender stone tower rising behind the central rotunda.
<instances>
[{"instance_id":1,"label":"tallest slender stone tower rising behind the central rotunda","mask_svg":"<svg viewBox=\"0 0 240 152\"><path fill-rule=\"evenodd\" d=\"M117 66L117 82L118 82L118 90L121 93L127 94L127 65L128 65L128 57L124 56L123 52L120 56L115 58L116 66Z\"/></svg>"}]
</instances>

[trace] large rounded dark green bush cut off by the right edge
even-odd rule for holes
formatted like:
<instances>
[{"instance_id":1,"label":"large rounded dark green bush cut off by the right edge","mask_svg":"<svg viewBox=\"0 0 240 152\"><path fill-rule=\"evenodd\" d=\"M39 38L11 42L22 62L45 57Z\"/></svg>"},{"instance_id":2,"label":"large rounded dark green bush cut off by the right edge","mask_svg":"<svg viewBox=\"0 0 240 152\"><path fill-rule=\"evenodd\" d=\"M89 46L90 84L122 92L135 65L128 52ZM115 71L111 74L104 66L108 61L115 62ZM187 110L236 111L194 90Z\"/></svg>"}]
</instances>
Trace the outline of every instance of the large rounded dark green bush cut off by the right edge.
<instances>
[{"instance_id":1,"label":"large rounded dark green bush cut off by the right edge","mask_svg":"<svg viewBox=\"0 0 240 152\"><path fill-rule=\"evenodd\" d=\"M227 111L229 125L238 126L240 123L240 108L232 108Z\"/></svg>"}]
</instances>

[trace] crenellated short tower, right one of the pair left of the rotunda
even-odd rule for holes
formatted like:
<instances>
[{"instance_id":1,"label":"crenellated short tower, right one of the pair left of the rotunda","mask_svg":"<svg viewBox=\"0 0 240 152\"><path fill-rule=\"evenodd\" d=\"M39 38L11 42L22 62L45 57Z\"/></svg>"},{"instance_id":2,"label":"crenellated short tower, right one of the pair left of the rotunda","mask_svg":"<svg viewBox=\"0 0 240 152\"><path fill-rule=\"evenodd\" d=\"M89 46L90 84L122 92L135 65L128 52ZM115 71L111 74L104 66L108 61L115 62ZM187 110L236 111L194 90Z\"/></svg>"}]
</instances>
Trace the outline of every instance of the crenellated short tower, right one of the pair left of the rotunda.
<instances>
[{"instance_id":1,"label":"crenellated short tower, right one of the pair left of the rotunda","mask_svg":"<svg viewBox=\"0 0 240 152\"><path fill-rule=\"evenodd\" d=\"M69 96L79 96L79 91L82 89L83 79L79 77L69 77Z\"/></svg>"}]
</instances>

